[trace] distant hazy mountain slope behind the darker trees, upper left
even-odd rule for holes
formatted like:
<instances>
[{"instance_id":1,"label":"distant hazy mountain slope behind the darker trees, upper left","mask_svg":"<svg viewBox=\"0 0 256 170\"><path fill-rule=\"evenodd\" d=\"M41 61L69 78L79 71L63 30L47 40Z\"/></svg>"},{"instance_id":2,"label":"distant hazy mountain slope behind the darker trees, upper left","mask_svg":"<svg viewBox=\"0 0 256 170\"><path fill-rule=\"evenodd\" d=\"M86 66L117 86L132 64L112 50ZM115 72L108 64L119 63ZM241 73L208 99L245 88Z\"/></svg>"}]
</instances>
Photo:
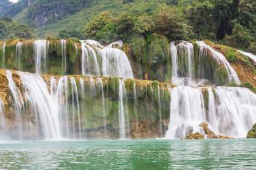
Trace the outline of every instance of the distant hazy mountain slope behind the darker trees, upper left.
<instances>
[{"instance_id":1,"label":"distant hazy mountain slope behind the darker trees, upper left","mask_svg":"<svg viewBox=\"0 0 256 170\"><path fill-rule=\"evenodd\" d=\"M102 11L110 11L112 15L121 12L152 14L162 5L176 3L177 0L42 0L25 7L21 4L29 4L28 0L20 0L7 15L21 23L35 26L39 36L56 36L61 30L76 30L81 34L85 24Z\"/></svg>"}]
</instances>

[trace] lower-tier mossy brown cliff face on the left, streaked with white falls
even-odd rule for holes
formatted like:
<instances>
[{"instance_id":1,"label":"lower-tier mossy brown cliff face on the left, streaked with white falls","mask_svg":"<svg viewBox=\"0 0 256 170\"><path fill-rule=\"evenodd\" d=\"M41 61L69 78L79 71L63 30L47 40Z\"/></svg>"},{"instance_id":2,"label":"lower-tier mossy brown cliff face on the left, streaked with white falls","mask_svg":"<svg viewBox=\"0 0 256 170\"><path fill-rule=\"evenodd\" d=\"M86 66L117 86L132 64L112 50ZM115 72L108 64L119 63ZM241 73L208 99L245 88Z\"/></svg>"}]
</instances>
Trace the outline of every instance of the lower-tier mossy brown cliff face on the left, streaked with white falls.
<instances>
[{"instance_id":1,"label":"lower-tier mossy brown cliff face on the left, streaked with white falls","mask_svg":"<svg viewBox=\"0 0 256 170\"><path fill-rule=\"evenodd\" d=\"M73 139L115 139L121 137L120 133L152 138L167 131L169 88L173 87L169 83L83 76L44 75L41 79L5 70L0 70L0 80L5 117L1 117L4 124L0 126L4 125L13 139L20 135L53 138L58 133ZM56 111L60 115L54 118ZM58 126L59 132L48 129L50 125Z\"/></svg>"}]
</instances>

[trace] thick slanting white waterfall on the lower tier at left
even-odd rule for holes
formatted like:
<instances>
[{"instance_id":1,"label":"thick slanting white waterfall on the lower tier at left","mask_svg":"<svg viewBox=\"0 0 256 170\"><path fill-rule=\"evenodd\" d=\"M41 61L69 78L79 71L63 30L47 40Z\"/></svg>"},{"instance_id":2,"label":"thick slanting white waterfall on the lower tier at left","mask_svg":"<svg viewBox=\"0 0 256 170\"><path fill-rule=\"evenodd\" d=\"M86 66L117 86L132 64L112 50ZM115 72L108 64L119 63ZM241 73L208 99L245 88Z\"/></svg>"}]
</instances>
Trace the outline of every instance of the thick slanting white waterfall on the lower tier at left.
<instances>
[{"instance_id":1,"label":"thick slanting white waterfall on the lower tier at left","mask_svg":"<svg viewBox=\"0 0 256 170\"><path fill-rule=\"evenodd\" d=\"M61 139L59 105L50 96L48 86L39 75L18 72L25 90L26 102L37 117L45 139Z\"/></svg>"}]
</instances>

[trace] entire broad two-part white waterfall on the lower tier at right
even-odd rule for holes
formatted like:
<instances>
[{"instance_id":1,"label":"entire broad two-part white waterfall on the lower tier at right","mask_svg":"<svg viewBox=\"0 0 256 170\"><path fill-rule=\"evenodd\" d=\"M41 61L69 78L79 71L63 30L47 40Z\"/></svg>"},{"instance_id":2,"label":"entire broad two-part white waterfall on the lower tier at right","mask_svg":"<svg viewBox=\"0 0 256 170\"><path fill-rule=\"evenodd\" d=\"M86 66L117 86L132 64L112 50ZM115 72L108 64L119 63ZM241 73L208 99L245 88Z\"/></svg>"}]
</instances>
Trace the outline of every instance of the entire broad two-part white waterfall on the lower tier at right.
<instances>
[{"instance_id":1,"label":"entire broad two-part white waterfall on the lower tier at right","mask_svg":"<svg viewBox=\"0 0 256 170\"><path fill-rule=\"evenodd\" d=\"M188 134L204 135L200 123L206 122L216 134L245 137L256 122L256 95L246 88L208 88L208 114L203 89L172 88L168 139L184 139ZM206 114L208 116L206 116Z\"/></svg>"}]
</instances>

